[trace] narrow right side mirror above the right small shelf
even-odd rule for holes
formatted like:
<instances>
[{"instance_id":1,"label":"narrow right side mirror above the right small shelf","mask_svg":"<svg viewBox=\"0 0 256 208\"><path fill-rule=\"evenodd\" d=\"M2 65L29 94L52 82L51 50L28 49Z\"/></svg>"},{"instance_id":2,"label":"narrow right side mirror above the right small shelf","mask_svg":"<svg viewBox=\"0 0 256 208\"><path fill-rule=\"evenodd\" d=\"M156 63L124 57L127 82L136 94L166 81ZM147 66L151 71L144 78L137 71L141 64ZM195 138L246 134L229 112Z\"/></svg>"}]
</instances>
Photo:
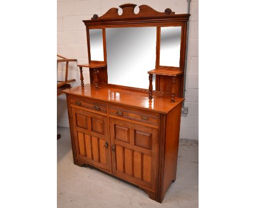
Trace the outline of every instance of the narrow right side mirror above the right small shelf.
<instances>
[{"instance_id":1,"label":"narrow right side mirror above the right small shelf","mask_svg":"<svg viewBox=\"0 0 256 208\"><path fill-rule=\"evenodd\" d=\"M181 51L181 27L161 27L160 65L178 66Z\"/></svg>"}]
</instances>

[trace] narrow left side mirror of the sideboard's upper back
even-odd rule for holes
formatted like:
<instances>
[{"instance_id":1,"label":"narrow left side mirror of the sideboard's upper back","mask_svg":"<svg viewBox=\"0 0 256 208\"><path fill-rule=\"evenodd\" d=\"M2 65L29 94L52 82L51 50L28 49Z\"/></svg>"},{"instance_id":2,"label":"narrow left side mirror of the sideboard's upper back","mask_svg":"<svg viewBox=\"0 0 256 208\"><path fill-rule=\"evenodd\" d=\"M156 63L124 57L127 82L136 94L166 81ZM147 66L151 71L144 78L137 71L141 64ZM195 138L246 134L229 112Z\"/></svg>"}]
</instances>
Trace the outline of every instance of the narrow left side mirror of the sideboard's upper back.
<instances>
[{"instance_id":1,"label":"narrow left side mirror of the sideboard's upper back","mask_svg":"<svg viewBox=\"0 0 256 208\"><path fill-rule=\"evenodd\" d=\"M102 29L90 29L91 60L104 60Z\"/></svg>"}]
</instances>

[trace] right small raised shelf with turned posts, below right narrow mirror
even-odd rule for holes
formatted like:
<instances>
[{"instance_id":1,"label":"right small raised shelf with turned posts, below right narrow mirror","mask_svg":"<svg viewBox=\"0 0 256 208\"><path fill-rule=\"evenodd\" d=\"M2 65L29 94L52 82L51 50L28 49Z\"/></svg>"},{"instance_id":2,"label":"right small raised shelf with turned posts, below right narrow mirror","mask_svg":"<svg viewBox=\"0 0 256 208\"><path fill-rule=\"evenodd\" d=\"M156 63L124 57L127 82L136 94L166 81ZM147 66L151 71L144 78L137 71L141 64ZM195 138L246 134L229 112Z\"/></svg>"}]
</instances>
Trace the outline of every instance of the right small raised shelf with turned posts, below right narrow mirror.
<instances>
[{"instance_id":1,"label":"right small raised shelf with turned posts, below right narrow mirror","mask_svg":"<svg viewBox=\"0 0 256 208\"><path fill-rule=\"evenodd\" d=\"M179 67L174 66L160 66L159 69L148 71L149 74L149 93L148 98L153 98L153 75L171 76L172 77L172 90L171 90L171 102L175 102L175 83L176 77L183 75L183 71L179 70Z\"/></svg>"}]
</instances>

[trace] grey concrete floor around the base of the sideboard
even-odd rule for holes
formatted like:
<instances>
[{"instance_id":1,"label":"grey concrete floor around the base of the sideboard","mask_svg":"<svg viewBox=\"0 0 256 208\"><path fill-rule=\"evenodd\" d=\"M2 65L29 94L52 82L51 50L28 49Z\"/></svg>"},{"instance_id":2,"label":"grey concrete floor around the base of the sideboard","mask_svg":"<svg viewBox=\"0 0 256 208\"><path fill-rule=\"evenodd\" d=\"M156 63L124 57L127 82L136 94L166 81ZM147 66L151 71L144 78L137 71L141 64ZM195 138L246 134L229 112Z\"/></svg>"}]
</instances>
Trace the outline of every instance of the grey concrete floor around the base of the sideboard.
<instances>
[{"instance_id":1,"label":"grey concrete floor around the base of the sideboard","mask_svg":"<svg viewBox=\"0 0 256 208\"><path fill-rule=\"evenodd\" d=\"M73 163L69 128L58 127L57 207L198 207L198 141L179 142L176 181L162 203L131 185L94 168Z\"/></svg>"}]
</instances>

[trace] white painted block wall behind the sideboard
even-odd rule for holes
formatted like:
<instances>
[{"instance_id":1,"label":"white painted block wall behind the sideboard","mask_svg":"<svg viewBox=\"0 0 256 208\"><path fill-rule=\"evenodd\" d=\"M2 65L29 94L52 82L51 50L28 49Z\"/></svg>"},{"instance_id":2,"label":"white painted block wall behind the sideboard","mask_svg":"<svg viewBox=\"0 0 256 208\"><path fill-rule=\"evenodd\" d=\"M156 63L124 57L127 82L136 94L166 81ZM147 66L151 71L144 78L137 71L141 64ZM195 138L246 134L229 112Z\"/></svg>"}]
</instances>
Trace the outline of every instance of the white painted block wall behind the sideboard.
<instances>
[{"instance_id":1,"label":"white painted block wall behind the sideboard","mask_svg":"<svg viewBox=\"0 0 256 208\"><path fill-rule=\"evenodd\" d=\"M78 63L88 63L85 26L82 20L90 20L92 15L103 15L112 7L124 3L147 4L157 11L171 8L176 14L187 13L187 0L57 0L57 53L68 58L78 59ZM181 138L198 140L198 0L191 0L190 28L188 42L188 68L185 106L188 114L182 114ZM76 63L69 64L69 78L80 84L79 69ZM59 64L58 80L65 76L65 64ZM89 83L89 71L84 69L85 83ZM66 97L57 98L57 125L68 127Z\"/></svg>"}]
</instances>

